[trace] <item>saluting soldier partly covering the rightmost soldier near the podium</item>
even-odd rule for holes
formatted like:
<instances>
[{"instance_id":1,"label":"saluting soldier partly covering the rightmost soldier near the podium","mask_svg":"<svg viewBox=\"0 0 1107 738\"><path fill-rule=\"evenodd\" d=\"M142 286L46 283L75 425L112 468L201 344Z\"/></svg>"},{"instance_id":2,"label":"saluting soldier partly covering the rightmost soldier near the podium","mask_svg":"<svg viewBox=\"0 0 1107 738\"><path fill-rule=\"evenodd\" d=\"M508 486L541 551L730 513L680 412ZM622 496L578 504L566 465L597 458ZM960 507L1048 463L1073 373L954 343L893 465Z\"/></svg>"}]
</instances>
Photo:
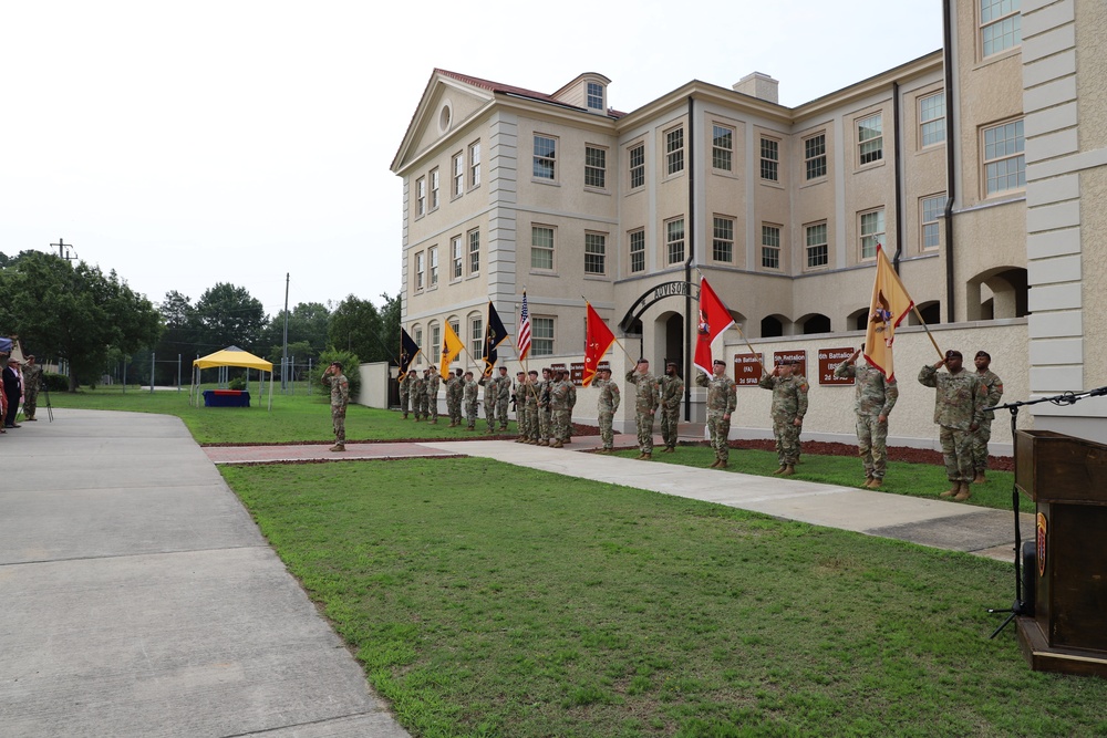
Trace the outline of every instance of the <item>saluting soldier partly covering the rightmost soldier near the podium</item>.
<instances>
[{"instance_id":1,"label":"saluting soldier partly covering the rightmost soldier near the podium","mask_svg":"<svg viewBox=\"0 0 1107 738\"><path fill-rule=\"evenodd\" d=\"M946 351L945 358L919 372L919 382L937 389L934 423L940 428L945 475L950 479L950 488L941 496L953 497L959 502L968 500L972 493L969 489L973 478L972 438L983 419L987 401L987 388L980 376L965 372L961 362L960 351ZM942 366L948 371L939 374Z\"/></svg>"}]
</instances>

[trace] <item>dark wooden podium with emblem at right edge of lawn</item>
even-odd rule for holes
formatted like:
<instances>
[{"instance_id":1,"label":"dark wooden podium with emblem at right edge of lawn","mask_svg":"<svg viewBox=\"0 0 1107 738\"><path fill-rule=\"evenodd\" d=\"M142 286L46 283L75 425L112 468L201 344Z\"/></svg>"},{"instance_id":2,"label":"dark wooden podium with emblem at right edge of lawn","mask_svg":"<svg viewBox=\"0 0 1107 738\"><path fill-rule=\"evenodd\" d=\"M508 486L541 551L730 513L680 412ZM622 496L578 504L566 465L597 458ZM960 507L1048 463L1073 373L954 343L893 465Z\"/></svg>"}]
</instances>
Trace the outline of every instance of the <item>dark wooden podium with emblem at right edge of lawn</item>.
<instances>
[{"instance_id":1,"label":"dark wooden podium with emblem at right edge of lawn","mask_svg":"<svg viewBox=\"0 0 1107 738\"><path fill-rule=\"evenodd\" d=\"M1107 677L1107 446L1018 430L1015 457L1015 486L1037 506L1018 645L1034 671Z\"/></svg>"}]
</instances>

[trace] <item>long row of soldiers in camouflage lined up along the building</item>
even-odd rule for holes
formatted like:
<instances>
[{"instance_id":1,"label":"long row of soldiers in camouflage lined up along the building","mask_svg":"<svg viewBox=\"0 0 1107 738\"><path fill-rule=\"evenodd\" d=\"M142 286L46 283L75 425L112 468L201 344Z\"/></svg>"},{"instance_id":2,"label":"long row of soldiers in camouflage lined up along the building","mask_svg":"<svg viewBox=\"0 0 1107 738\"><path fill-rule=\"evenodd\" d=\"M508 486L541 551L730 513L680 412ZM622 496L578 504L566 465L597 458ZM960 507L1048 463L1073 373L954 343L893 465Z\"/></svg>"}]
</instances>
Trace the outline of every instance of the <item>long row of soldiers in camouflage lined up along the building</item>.
<instances>
[{"instance_id":1,"label":"long row of soldiers in camouflage lined up along the building","mask_svg":"<svg viewBox=\"0 0 1107 738\"><path fill-rule=\"evenodd\" d=\"M879 370L858 365L861 354L853 354L835 367L835 376L849 377L855 383L853 413L856 415L857 447L865 470L865 487L879 489L888 470L888 417L899 398L899 386ZM987 470L987 443L991 438L993 414L985 408L996 405L1003 396L1003 382L991 371L992 357L980 351L975 356L976 372L962 367L960 352L950 351L933 366L923 366L919 382L937 389L934 423L940 427L942 454L945 460L950 489L942 497L964 501L971 495L970 485L985 481ZM945 372L939 372L945 367ZM810 386L796 362L785 361L763 374L758 386L773 393L769 414L780 476L792 476L799 462L800 434L808 409ZM684 381L677 375L674 362L668 362L664 375L650 372L650 362L640 358L625 376L633 387L634 420L638 430L639 460L653 458L653 427L660 410L663 454L676 450L677 422L684 396ZM715 454L712 468L725 469L730 461L731 416L737 406L734 381L726 375L726 363L715 360L712 374L697 374L696 386L707 391L706 428ZM614 414L622 395L611 380L610 368L600 368L592 382L599 391L597 416L601 448L598 453L614 450ZM488 432L507 429L508 404L514 399L519 435L516 443L562 448L571 443L572 408L577 403L577 388L566 370L542 368L539 372L518 372L513 383L507 367L500 366L498 375L474 380L473 372L457 370L446 381L446 407L449 426L461 426L462 415L466 429L475 430L478 416L479 387L484 387L484 404ZM412 370L400 382L400 404L404 419L414 412L415 420L437 423L438 375L434 366L424 371L423 377ZM410 409L411 408L411 409Z\"/></svg>"}]
</instances>

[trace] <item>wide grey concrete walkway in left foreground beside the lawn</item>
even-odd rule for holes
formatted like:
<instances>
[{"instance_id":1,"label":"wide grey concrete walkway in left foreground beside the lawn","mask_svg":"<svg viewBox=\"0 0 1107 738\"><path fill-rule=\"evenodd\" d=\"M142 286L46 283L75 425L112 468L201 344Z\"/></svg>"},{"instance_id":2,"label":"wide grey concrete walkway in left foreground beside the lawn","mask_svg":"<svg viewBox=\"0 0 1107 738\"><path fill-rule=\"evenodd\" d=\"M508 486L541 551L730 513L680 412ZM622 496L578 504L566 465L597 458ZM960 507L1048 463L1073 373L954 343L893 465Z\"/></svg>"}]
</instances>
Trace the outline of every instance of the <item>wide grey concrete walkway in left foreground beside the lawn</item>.
<instances>
[{"instance_id":1,"label":"wide grey concrete walkway in left foreground beside the lawn","mask_svg":"<svg viewBox=\"0 0 1107 738\"><path fill-rule=\"evenodd\" d=\"M0 735L407 736L175 417L0 437Z\"/></svg>"}]
</instances>

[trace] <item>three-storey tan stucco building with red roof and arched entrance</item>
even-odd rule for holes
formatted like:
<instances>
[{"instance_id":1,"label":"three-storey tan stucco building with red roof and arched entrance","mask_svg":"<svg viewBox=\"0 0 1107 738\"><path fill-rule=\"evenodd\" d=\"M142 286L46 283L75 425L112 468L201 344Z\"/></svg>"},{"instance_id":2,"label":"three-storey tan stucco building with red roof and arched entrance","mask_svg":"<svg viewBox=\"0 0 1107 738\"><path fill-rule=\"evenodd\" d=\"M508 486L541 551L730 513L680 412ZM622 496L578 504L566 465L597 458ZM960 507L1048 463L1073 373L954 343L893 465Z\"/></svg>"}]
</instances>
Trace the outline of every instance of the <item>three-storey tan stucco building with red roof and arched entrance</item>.
<instances>
[{"instance_id":1,"label":"three-storey tan stucco building with red roof and arched entrance","mask_svg":"<svg viewBox=\"0 0 1107 738\"><path fill-rule=\"evenodd\" d=\"M1088 207L1107 190L1101 6L941 10L944 49L797 107L756 72L623 113L598 73L540 93L435 70L392 166L404 328L436 357L448 321L472 354L458 365L475 366L488 300L514 334L526 291L530 367L571 364L587 299L627 352L691 378L695 302L680 284L702 274L766 361L807 352L821 409L805 436L849 440L850 391L814 370L820 350L860 343L880 243L942 347L969 362L987 350L1007 398L1107 384L1107 316L1084 310L1107 279L1095 227L1107 208ZM731 358L748 344L732 330L714 349ZM506 344L500 356L515 358ZM610 358L617 374L628 361L619 347ZM934 445L932 391L915 375L935 360L921 328L897 341L892 443ZM768 393L739 392L733 435L764 436ZM690 418L701 402L692 389ZM1107 440L1098 402L1035 405L1021 425Z\"/></svg>"}]
</instances>

